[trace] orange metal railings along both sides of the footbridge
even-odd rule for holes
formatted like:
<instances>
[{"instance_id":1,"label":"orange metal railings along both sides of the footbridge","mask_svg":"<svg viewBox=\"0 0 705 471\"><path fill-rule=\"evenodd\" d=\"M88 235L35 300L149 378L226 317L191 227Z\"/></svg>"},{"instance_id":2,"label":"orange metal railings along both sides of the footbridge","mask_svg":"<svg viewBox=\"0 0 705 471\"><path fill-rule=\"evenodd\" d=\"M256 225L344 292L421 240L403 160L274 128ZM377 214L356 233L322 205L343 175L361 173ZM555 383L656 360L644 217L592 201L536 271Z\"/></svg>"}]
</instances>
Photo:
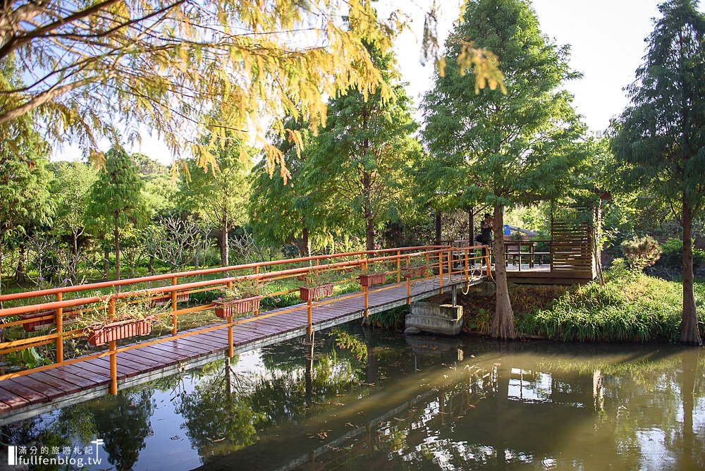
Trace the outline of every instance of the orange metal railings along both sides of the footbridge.
<instances>
[{"instance_id":1,"label":"orange metal railings along both sides of the footbridge","mask_svg":"<svg viewBox=\"0 0 705 471\"><path fill-rule=\"evenodd\" d=\"M481 255L476 255L476 251L481 250ZM25 369L20 372L13 372L9 374L0 375L0 381L3 379L8 379L12 377L18 377L32 372L42 371L44 369L51 369L54 367L59 367L61 365L72 365L77 362L82 362L86 360L92 360L100 357L109 357L110 360L110 374L111 374L111 385L110 392L117 393L117 353L127 352L135 348L144 348L149 345L155 345L157 343L162 343L166 341L171 341L178 338L185 338L188 336L202 334L204 332L216 331L219 329L228 329L228 355L233 356L233 326L236 324L246 324L248 322L253 322L255 320L264 319L266 317L271 317L280 314L286 314L289 312L295 312L300 310L306 310L307 313L307 325L309 333L313 329L312 323L312 308L319 305L326 305L331 302L336 302L340 300L355 298L356 296L364 296L364 308L365 316L369 315L369 293L376 293L379 291L394 288L396 286L406 285L407 288L407 304L411 300L411 277L405 277L405 281L402 281L403 269L405 267L410 267L413 262L421 262L425 267L431 268L431 274L429 276L422 276L421 279L439 279L439 286L441 288L441 293L443 293L443 277L449 276L451 279L453 276L461 276L461 281L464 280L466 283L474 279L478 279L482 276L487 276L489 279L491 277L490 271L490 250L489 247L482 245L475 245L472 247L449 247L449 246L438 246L438 245L424 245L419 247L402 247L394 249L384 249L384 250L370 250L362 252L345 252L340 254L331 255L317 255L313 257L300 257L296 259L283 259L276 260L272 262L258 262L253 264L242 264L235 265L231 267L219 267L212 269L202 269L195 271L183 271L180 273L173 274L162 274L154 276L142 276L133 279L124 279L120 281L105 281L101 283L88 283L78 286L66 286L61 288L51 288L47 290L36 290L28 291L25 293L13 293L8 295L0 295L0 301L18 301L25 300L28 301L25 305L18 305L15 307L7 307L5 309L0 309L0 322L4 328L10 326L18 326L25 324L27 322L36 322L38 320L54 320L56 326L56 332L53 334L31 336L30 338L22 338L15 341L0 342L0 355L6 353L15 352L18 350L25 350L27 348L37 347L40 345L49 345L54 343L56 345L56 362L51 365L42 365L32 369ZM482 274L482 268L472 268L474 263L477 261L484 261L486 274ZM326 262L321 264L321 262ZM285 268L278 271L269 271L272 267L281 267L286 264L308 264L303 267ZM309 271L345 271L351 268L369 269L371 266L384 265L386 268L387 276L394 276L396 274L396 283L391 285L382 286L381 288L376 288L370 290L366 286L362 286L362 290L359 293L351 293L348 295L343 295L338 298L329 300L308 300L305 305L295 305L283 310L277 310L276 312L269 312L266 314L259 314L255 312L252 317L245 317L242 319L235 320L230 317L225 324L206 326L200 329L192 329L188 332L178 332L178 316L183 314L189 314L192 312L200 312L203 310L208 310L213 307L212 303L207 303L204 305L198 305L195 307L186 307L183 309L178 308L178 297L179 295L184 295L186 293L198 293L206 290L218 290L221 288L226 288L232 286L232 284L238 280L242 279L255 279L257 280L257 285L263 285L267 281L277 281L292 279L302 274L308 274ZM230 276L236 272L235 276ZM204 281L189 281L186 283L179 283L180 279L192 277L192 276L202 276L207 274L224 274L222 278L204 280ZM336 283L344 283L353 281L353 279L341 279ZM154 281L170 281L171 284L168 286L159 286L154 288L146 288L140 290L127 290L119 293L109 293L109 294L96 294L90 293L97 289L104 288L116 288L118 286L135 286L140 283L150 283ZM279 290L273 293L260 293L264 298L275 298L284 294L293 293L298 290L298 287L290 290ZM90 293L90 295L84 295L79 298L74 298L66 300L63 295L66 293ZM78 338L85 336L85 331L83 329L75 329L71 331L65 331L63 329L63 319L66 316L80 316L83 312L90 309L90 305L98 302L108 302L109 312L114 313L114 306L116 300L121 300L125 298L132 298L135 295L149 295L152 299L164 299L168 297L170 302L171 310L168 310L161 314L163 317L171 318L171 336L156 338L151 341L141 342L133 345L124 345L118 348L116 341L109 342L109 349L106 351L94 353L92 355L86 355L82 357L77 357L73 359L64 359L63 357L63 347L64 342L71 338ZM47 297L54 297L55 300L44 301ZM37 302L37 300L40 300ZM89 307L87 307L89 306ZM39 312L48 312L47 315L42 317L37 317L31 320L12 320L11 322L4 322L9 316L16 316L18 314L31 314Z\"/></svg>"}]
</instances>

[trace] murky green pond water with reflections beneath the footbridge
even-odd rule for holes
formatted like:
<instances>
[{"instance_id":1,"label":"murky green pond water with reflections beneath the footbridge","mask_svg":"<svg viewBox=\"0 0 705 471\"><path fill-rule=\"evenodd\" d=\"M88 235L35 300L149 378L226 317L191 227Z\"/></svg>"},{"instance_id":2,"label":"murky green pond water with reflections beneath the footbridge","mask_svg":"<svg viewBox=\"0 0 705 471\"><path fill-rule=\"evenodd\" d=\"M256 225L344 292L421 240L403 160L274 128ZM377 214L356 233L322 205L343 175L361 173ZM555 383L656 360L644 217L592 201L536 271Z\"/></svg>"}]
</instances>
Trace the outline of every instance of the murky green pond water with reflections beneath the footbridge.
<instances>
[{"instance_id":1,"label":"murky green pond water with reflections beneath the footbridge","mask_svg":"<svg viewBox=\"0 0 705 471\"><path fill-rule=\"evenodd\" d=\"M705 469L700 349L348 326L312 356L301 339L257 350L12 424L3 442L87 458L102 439L92 469Z\"/></svg>"}]
</instances>

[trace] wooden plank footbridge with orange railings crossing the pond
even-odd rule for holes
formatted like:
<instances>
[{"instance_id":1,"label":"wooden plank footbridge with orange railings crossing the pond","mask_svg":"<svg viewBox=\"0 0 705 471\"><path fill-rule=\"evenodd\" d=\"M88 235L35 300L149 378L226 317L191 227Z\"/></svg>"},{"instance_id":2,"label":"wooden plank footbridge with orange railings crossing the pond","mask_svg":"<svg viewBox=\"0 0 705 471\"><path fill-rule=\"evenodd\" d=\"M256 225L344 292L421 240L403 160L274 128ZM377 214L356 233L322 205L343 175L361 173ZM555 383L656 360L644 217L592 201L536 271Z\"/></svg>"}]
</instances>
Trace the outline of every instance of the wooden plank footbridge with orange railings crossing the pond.
<instances>
[{"instance_id":1,"label":"wooden plank footbridge with orange railings crossing the pond","mask_svg":"<svg viewBox=\"0 0 705 471\"><path fill-rule=\"evenodd\" d=\"M475 262L484 262L484 268L476 266ZM42 327L51 327L52 330L50 334L31 334L25 335L25 338L0 342L0 355L30 351L43 346L48 354L53 354L54 361L49 365L0 375L0 424L22 420L106 393L115 394L118 389L205 365L219 360L223 355L232 357L235 353L312 334L315 330L327 329L369 314L407 305L415 300L429 298L443 293L443 290L455 290L458 286L467 287L482 283L489 276L487 262L489 250L486 247L405 247L277 260L2 295L0 302L6 305L16 304L0 309L4 329L18 329L21 326L26 331ZM361 270L363 274L384 274L381 276L383 281L379 286L364 286L369 285L369 281L350 275L356 269ZM231 276L233 272L235 276ZM305 276L308 276L310 281L319 279L324 274L338 277L336 283L326 284L329 287L331 284L349 287L356 280L360 281L362 286L360 290L338 295L330 293L322 295L319 299L309 296L304 303L259 312L261 300L279 298L299 291L299 288L295 287L267 293L267 282L292 282L293 279L302 281ZM225 276L183 282L184 279L214 275ZM353 278L345 278L347 276ZM171 284L144 288L145 285L160 281ZM248 311L254 311L249 312L251 315L238 319L234 319L234 316L228 317L224 322L195 329L178 329L179 316L212 310L214 307L213 303L207 303L180 308L179 302L183 304L193 293L232 288L233 283L243 281L254 284L258 290L257 295L250 298L256 298L256 305L247 305ZM133 289L116 291L124 286ZM96 291L106 289L112 292ZM65 295L67 298L73 298L64 299ZM302 298L304 297L302 295ZM54 300L47 301L47 298ZM80 345L85 344L86 338L95 341L92 334L94 330L82 328L67 331L64 326L67 326L68 322L89 317L90 313L94 312L92 310L100 310L101 307L108 312L109 317L116 318L120 312L118 305L139 304L145 298L151 304L166 305L157 317L171 321L171 335L120 345L118 338L106 338L106 343L109 343L106 350L94 349L94 353L88 355L64 357L66 341L78 341ZM19 320L14 320L18 316ZM147 319L147 323L149 322L150 319ZM126 330L133 334L145 334L139 329Z\"/></svg>"}]
</instances>

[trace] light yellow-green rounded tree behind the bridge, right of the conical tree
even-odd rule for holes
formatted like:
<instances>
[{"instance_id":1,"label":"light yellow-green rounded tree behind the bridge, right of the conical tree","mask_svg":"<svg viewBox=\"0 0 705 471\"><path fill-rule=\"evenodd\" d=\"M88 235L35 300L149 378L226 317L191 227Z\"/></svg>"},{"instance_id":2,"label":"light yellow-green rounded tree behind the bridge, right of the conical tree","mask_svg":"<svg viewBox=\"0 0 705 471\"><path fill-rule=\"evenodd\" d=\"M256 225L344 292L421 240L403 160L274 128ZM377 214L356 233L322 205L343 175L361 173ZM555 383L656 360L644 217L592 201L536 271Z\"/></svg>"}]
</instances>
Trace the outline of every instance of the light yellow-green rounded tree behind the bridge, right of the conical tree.
<instances>
[{"instance_id":1,"label":"light yellow-green rounded tree behind the bridge, right of the conical tree","mask_svg":"<svg viewBox=\"0 0 705 471\"><path fill-rule=\"evenodd\" d=\"M227 267L228 233L247 222L252 149L234 139L212 154L218 166L212 172L198 168L195 160L188 162L191 178L182 180L180 197L183 207L218 229L221 264Z\"/></svg>"}]
</instances>

